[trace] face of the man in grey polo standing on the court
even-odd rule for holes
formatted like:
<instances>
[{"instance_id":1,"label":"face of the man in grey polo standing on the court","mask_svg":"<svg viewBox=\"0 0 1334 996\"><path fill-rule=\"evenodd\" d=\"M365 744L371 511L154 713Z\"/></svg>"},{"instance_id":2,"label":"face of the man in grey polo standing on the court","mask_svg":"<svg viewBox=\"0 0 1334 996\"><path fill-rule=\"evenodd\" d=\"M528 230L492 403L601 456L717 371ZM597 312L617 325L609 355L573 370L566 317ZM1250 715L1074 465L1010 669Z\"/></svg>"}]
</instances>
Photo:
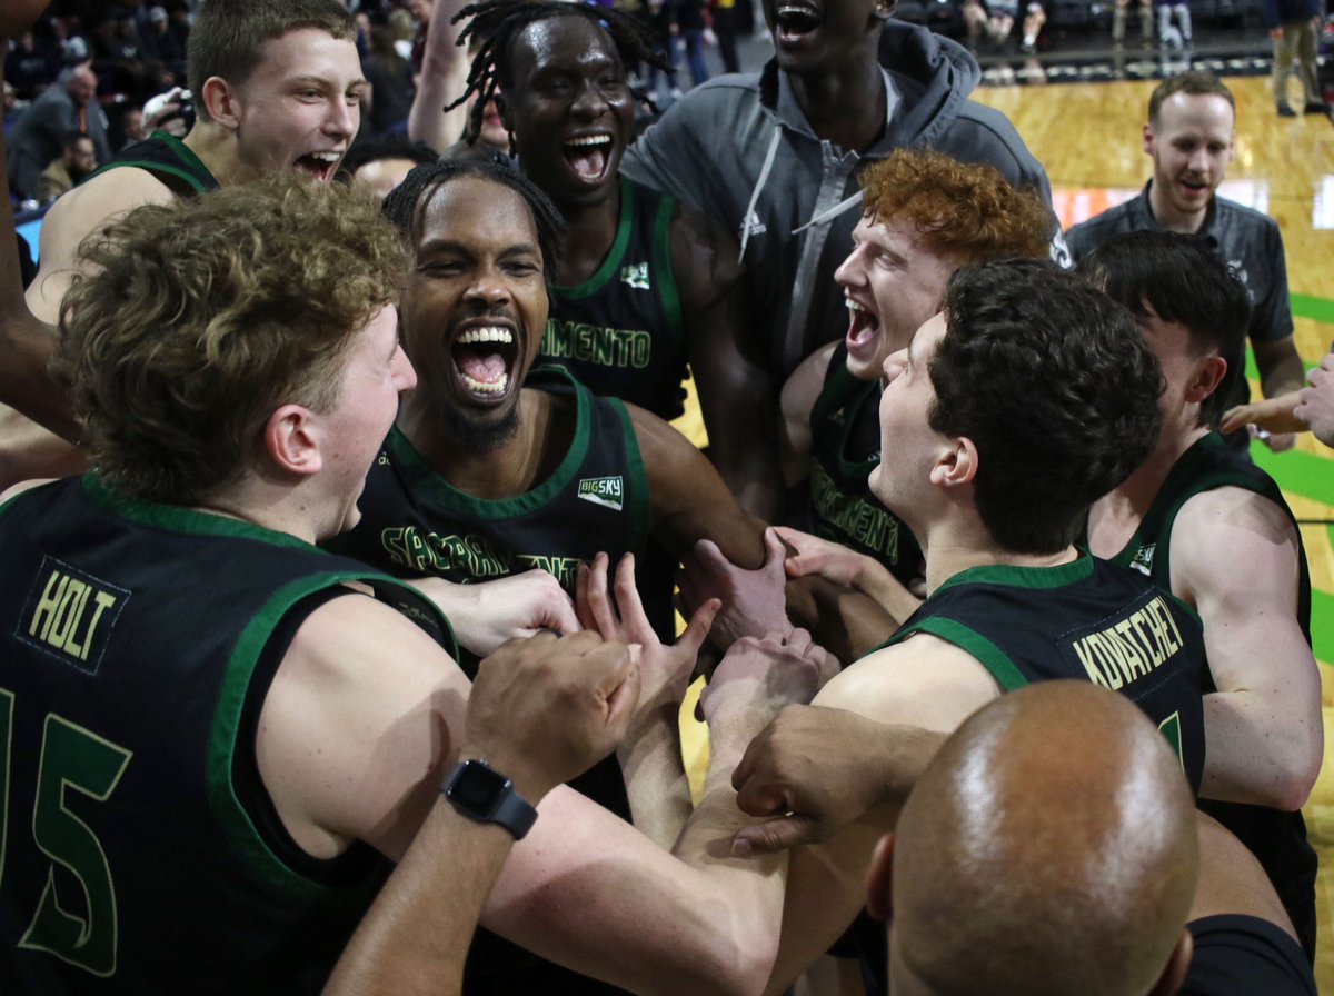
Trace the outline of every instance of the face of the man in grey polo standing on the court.
<instances>
[{"instance_id":1,"label":"face of the man in grey polo standing on the court","mask_svg":"<svg viewBox=\"0 0 1334 996\"><path fill-rule=\"evenodd\" d=\"M1214 189L1233 159L1235 115L1217 93L1173 93L1145 125L1145 152L1154 160L1150 191L1163 224L1203 223Z\"/></svg>"}]
</instances>

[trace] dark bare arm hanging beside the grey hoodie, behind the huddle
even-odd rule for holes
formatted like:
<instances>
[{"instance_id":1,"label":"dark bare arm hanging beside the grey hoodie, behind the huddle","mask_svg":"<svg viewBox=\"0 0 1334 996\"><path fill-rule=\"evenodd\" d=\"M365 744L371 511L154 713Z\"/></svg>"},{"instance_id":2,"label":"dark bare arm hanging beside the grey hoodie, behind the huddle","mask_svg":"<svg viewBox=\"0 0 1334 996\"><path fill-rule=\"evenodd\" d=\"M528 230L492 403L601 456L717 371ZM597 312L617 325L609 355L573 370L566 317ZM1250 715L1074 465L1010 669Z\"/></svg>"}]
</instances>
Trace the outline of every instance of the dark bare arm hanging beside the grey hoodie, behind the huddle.
<instances>
[{"instance_id":1,"label":"dark bare arm hanging beside the grey hoodie, behind the huddle","mask_svg":"<svg viewBox=\"0 0 1334 996\"><path fill-rule=\"evenodd\" d=\"M776 517L782 501L774 387L747 317L746 271L735 243L702 215L682 209L671 227L686 352L699 388L708 448L742 508Z\"/></svg>"}]
</instances>

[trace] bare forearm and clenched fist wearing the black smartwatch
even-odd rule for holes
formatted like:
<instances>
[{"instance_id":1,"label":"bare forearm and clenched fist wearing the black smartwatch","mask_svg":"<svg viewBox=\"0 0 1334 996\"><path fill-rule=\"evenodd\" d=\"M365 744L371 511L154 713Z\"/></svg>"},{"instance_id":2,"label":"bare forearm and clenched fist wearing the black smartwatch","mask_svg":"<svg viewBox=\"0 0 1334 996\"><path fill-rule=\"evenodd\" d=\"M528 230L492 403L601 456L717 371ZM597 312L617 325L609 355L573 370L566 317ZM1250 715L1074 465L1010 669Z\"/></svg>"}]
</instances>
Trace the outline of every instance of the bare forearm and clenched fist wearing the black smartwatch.
<instances>
[{"instance_id":1,"label":"bare forearm and clenched fist wearing the black smartwatch","mask_svg":"<svg viewBox=\"0 0 1334 996\"><path fill-rule=\"evenodd\" d=\"M578 657L568 647L550 636L508 644L483 663L468 699L459 756L486 759L527 801L606 756L638 696L624 647L590 644ZM438 797L325 995L462 992L474 927L514 843Z\"/></svg>"}]
</instances>

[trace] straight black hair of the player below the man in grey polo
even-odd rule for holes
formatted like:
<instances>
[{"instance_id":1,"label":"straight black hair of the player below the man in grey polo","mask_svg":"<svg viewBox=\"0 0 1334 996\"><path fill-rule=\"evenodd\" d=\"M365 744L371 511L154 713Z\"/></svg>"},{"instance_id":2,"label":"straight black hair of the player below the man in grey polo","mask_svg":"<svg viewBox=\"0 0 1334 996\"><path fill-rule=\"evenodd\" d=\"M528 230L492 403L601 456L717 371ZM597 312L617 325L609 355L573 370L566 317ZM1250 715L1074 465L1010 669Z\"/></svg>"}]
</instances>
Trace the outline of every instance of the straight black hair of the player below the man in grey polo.
<instances>
[{"instance_id":1,"label":"straight black hair of the player below the man in grey polo","mask_svg":"<svg viewBox=\"0 0 1334 996\"><path fill-rule=\"evenodd\" d=\"M1185 325L1197 356L1227 360L1222 381L1199 404L1199 424L1217 429L1245 376L1251 304L1209 243L1179 232L1125 232L1082 259L1077 272L1139 321L1157 315Z\"/></svg>"}]
</instances>

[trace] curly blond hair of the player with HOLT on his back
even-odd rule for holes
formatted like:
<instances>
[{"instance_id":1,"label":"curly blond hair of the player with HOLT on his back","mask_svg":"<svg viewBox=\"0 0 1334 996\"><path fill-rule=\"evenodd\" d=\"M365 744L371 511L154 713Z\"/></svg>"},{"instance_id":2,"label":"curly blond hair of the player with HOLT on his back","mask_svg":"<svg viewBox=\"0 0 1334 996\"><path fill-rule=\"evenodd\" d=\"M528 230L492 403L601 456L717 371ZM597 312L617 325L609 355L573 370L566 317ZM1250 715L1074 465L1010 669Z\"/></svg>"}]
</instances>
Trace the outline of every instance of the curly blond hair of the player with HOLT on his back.
<instances>
[{"instance_id":1,"label":"curly blond hair of the player with HOLT on his back","mask_svg":"<svg viewBox=\"0 0 1334 996\"><path fill-rule=\"evenodd\" d=\"M55 369L107 484L169 504L239 480L281 404L336 404L408 265L372 200L291 175L141 207L79 256Z\"/></svg>"}]
</instances>

